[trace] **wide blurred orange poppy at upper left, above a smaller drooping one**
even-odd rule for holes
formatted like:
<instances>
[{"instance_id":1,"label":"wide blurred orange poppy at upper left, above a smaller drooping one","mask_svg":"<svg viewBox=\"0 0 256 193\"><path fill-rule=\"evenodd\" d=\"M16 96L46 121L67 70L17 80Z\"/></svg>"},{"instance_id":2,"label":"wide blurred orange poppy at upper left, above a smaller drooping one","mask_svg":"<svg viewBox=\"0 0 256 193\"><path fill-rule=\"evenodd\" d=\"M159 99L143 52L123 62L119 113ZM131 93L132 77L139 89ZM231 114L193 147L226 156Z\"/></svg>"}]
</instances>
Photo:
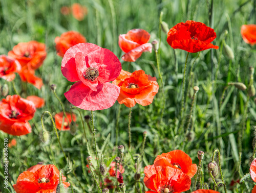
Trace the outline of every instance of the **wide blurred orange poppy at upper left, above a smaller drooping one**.
<instances>
[{"instance_id":1,"label":"wide blurred orange poppy at upper left, above a smaller drooping one","mask_svg":"<svg viewBox=\"0 0 256 193\"><path fill-rule=\"evenodd\" d=\"M37 69L46 58L46 46L37 41L22 42L15 45L8 55L19 61L20 65Z\"/></svg>"}]
</instances>

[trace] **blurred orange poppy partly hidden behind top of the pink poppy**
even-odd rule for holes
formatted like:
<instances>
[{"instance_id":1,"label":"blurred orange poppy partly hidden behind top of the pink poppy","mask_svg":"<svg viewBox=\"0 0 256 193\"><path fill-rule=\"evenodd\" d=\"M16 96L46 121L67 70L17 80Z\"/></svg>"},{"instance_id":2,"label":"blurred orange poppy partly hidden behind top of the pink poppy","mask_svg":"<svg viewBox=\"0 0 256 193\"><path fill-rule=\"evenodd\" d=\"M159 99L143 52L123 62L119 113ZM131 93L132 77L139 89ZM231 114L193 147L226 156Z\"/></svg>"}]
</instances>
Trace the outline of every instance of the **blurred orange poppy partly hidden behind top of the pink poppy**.
<instances>
[{"instance_id":1,"label":"blurred orange poppy partly hidden behind top of the pink poppy","mask_svg":"<svg viewBox=\"0 0 256 193\"><path fill-rule=\"evenodd\" d=\"M61 34L60 37L56 37L54 41L56 43L55 48L57 55L63 57L67 50L73 45L86 43L86 38L78 32L69 31Z\"/></svg>"}]
</instances>

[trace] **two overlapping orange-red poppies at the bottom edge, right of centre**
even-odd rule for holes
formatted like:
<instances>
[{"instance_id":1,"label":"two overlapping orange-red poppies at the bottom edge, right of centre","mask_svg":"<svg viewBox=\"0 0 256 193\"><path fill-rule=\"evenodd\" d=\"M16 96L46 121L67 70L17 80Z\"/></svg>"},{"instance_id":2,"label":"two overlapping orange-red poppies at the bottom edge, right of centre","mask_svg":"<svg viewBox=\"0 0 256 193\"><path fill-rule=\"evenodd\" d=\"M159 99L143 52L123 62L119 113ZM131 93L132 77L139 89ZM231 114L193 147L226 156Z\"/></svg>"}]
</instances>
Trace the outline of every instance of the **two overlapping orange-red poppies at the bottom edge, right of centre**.
<instances>
[{"instance_id":1,"label":"two overlapping orange-red poppies at the bottom edge, right of centre","mask_svg":"<svg viewBox=\"0 0 256 193\"><path fill-rule=\"evenodd\" d=\"M153 165L144 168L144 183L152 190L146 193L174 193L189 190L191 178L197 172L197 165L181 150L163 153Z\"/></svg>"}]
</instances>

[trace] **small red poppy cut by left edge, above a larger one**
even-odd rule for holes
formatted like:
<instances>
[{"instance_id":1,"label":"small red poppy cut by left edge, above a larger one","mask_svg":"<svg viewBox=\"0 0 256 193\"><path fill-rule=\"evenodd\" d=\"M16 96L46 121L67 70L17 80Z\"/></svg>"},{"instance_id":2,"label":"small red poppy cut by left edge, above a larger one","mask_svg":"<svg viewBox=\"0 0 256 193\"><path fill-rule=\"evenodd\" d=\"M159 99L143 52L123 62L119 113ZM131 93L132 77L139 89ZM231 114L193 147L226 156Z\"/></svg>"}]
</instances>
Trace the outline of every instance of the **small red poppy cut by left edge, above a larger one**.
<instances>
[{"instance_id":1,"label":"small red poppy cut by left edge, above a larger one","mask_svg":"<svg viewBox=\"0 0 256 193\"><path fill-rule=\"evenodd\" d=\"M19 62L6 55L0 55L0 78L7 81L15 79L15 74L20 70L21 66Z\"/></svg>"}]
</instances>

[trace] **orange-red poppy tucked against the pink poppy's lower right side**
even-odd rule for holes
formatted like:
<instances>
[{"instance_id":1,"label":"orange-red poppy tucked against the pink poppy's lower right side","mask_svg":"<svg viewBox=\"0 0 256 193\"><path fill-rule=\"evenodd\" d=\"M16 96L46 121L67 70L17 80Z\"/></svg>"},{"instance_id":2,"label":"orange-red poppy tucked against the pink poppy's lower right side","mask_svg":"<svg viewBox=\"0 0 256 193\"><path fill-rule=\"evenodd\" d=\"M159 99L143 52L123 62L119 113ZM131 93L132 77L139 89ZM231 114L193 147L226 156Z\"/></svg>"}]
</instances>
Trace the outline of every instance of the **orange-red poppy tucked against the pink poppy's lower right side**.
<instances>
[{"instance_id":1,"label":"orange-red poppy tucked against the pink poppy's lower right side","mask_svg":"<svg viewBox=\"0 0 256 193\"><path fill-rule=\"evenodd\" d=\"M153 102L159 86L155 77L146 75L143 70L133 73L121 70L119 77L113 84L121 88L118 103L126 107L134 107L136 103L146 106Z\"/></svg>"}]
</instances>

